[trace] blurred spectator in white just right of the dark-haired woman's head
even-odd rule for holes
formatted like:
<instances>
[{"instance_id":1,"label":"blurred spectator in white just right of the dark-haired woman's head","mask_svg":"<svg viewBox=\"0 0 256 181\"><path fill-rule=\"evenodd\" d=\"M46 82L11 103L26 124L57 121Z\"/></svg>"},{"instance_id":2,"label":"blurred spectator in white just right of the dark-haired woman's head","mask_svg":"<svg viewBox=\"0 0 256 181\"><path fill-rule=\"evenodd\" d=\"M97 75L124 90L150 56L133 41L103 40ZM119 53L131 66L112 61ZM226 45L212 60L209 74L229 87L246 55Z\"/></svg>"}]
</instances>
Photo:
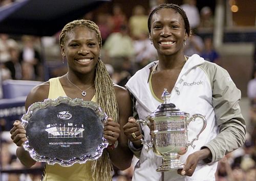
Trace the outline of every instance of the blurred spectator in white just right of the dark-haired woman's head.
<instances>
[{"instance_id":1,"label":"blurred spectator in white just right of the dark-haired woman's head","mask_svg":"<svg viewBox=\"0 0 256 181\"><path fill-rule=\"evenodd\" d=\"M200 14L197 8L197 0L184 0L180 7L187 14L189 25L191 29L197 29L200 25Z\"/></svg>"}]
</instances>

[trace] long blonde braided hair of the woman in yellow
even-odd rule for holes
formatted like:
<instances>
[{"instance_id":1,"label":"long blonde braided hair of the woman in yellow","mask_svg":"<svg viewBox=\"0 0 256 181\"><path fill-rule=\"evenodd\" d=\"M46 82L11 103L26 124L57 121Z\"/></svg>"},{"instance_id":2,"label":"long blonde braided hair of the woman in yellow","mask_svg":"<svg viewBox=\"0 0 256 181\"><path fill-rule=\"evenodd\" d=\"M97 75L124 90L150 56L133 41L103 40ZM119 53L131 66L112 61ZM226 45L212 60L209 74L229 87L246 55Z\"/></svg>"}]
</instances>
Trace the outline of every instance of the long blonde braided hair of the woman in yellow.
<instances>
[{"instance_id":1,"label":"long blonde braided hair of the woman in yellow","mask_svg":"<svg viewBox=\"0 0 256 181\"><path fill-rule=\"evenodd\" d=\"M69 22L61 31L59 35L59 45L64 46L66 41L66 34L71 32L75 27L86 27L96 32L99 48L102 47L102 38L100 35L99 27L95 22L79 19ZM115 90L111 77L106 70L104 63L98 59L96 65L95 76L95 95L97 104L106 112L106 115L111 116L115 122L118 122L118 105L116 101ZM112 164L109 158L108 151L103 151L102 156L92 162L92 176L96 180L112 180Z\"/></svg>"}]
</instances>

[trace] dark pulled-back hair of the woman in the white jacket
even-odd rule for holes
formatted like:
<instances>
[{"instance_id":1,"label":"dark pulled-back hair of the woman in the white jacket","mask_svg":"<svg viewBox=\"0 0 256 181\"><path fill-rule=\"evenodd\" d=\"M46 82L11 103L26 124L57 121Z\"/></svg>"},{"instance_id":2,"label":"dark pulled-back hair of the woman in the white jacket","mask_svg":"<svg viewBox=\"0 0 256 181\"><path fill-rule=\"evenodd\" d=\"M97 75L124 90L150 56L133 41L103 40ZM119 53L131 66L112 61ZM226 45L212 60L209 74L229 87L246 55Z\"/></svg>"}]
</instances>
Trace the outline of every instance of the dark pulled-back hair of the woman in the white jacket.
<instances>
[{"instance_id":1,"label":"dark pulled-back hair of the woman in the white jacket","mask_svg":"<svg viewBox=\"0 0 256 181\"><path fill-rule=\"evenodd\" d=\"M151 19L152 19L153 14L155 14L160 9L164 9L164 8L172 8L172 9L176 10L182 16L182 18L184 20L186 33L189 36L190 35L190 26L189 26L189 22L187 19L187 15L186 15L185 11L176 4L161 4L161 5L157 6L155 9L153 9L147 19L148 32L151 33Z\"/></svg>"}]
</instances>

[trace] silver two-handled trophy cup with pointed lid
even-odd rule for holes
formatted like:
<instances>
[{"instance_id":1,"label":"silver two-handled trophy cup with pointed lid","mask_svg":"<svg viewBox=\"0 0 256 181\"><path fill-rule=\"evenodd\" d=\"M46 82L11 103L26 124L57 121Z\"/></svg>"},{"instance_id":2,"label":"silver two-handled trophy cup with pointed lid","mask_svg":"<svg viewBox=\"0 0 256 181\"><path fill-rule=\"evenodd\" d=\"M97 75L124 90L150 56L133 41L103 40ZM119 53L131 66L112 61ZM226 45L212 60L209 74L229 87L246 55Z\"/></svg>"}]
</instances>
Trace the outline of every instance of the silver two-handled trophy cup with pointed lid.
<instances>
[{"instance_id":1,"label":"silver two-handled trophy cup with pointed lid","mask_svg":"<svg viewBox=\"0 0 256 181\"><path fill-rule=\"evenodd\" d=\"M195 148L194 141L199 139L199 135L206 127L204 116L195 114L189 117L188 113L180 111L173 103L168 103L169 98L170 94L165 88L162 94L164 103L145 120L136 120L150 127L152 144L146 143L143 139L141 142L147 146L147 151L153 148L156 155L163 156L163 164L157 168L157 171L161 172L183 168L179 155L186 153L188 146ZM203 121L203 126L197 137L188 142L187 126L196 118Z\"/></svg>"}]
</instances>

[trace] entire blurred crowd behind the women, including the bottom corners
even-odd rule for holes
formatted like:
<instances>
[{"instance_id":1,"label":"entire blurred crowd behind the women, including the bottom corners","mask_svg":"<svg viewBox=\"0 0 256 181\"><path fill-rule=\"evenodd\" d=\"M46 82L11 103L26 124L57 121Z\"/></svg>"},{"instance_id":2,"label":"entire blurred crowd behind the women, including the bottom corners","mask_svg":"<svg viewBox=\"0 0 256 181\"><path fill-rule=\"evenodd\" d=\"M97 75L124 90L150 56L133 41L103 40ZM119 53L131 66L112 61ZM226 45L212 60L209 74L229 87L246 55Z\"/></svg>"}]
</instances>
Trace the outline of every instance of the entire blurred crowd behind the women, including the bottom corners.
<instances>
[{"instance_id":1,"label":"entire blurred crowd behind the women, including the bottom corners","mask_svg":"<svg viewBox=\"0 0 256 181\"><path fill-rule=\"evenodd\" d=\"M13 1L0 1L4 6ZM162 4L165 1L157 1ZM196 0L184 1L181 7L186 12L193 35L185 43L185 55L199 54L205 60L221 65L221 55L216 51L212 43L212 37L200 37L198 32L203 28L214 27L214 14L210 7L199 10ZM127 80L146 64L157 60L157 52L148 38L147 17L151 9L145 9L141 5L133 8L133 13L128 17L123 6L115 4L112 13L92 12L84 18L93 20L99 26L102 36L101 59L106 64L113 82L124 86ZM193 18L192 18L193 17ZM58 47L58 33L45 39L44 46ZM256 45L255 45L256 47ZM44 63L40 48L40 38L24 35L11 37L8 34L0 34L0 83L7 79L39 80L44 81ZM57 53L56 53L57 52ZM62 64L60 50L54 51L55 57L60 57L50 69L50 77L61 76L66 73L66 65ZM256 54L256 50L255 50ZM256 67L256 55L254 54L254 67ZM253 181L256 180L256 70L248 83L248 98L250 99L250 122L247 141L244 146L227 154L220 162L216 172L217 181ZM1 90L0 90L1 98ZM1 122L0 122L1 124ZM25 169L16 159L16 147L10 140L9 132L1 133L1 169ZM125 171L114 170L114 181L130 181L133 175L134 162L130 169ZM41 168L42 164L34 167ZM40 174L0 174L2 181L39 180Z\"/></svg>"}]
</instances>

